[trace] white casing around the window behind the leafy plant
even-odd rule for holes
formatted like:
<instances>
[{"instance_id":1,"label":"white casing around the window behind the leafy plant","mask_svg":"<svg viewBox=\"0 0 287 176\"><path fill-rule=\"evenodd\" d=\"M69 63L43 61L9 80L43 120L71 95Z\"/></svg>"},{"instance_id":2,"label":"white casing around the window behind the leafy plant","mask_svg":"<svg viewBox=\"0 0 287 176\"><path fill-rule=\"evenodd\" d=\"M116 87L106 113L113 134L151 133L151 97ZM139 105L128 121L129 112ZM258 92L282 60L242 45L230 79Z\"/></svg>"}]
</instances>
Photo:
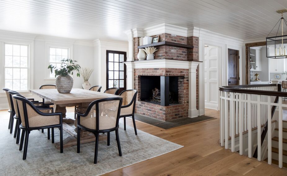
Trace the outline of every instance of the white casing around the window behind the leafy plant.
<instances>
[{"instance_id":1,"label":"white casing around the window behind the leafy plant","mask_svg":"<svg viewBox=\"0 0 287 176\"><path fill-rule=\"evenodd\" d=\"M56 47L56 48L69 48L69 58L73 59L73 45L71 44L60 44L60 43L50 43L46 42L46 49L45 49L45 69L47 68L47 71L45 71L45 83L54 83L56 81L56 78L50 77L50 70L48 69L48 66L50 65L50 47Z\"/></svg>"}]
</instances>

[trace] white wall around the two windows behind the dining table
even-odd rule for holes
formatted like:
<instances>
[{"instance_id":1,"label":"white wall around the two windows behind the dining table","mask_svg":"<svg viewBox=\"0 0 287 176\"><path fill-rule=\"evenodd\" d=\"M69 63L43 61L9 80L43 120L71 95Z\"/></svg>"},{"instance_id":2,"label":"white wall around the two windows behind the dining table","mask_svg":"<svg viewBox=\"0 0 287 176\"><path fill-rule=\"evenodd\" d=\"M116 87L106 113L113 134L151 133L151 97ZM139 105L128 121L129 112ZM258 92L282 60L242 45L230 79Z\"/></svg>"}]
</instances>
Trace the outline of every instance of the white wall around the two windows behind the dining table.
<instances>
[{"instance_id":1,"label":"white wall around the two windows behind the dining table","mask_svg":"<svg viewBox=\"0 0 287 176\"><path fill-rule=\"evenodd\" d=\"M81 67L94 68L94 48L92 41L83 41L75 39L66 39L52 36L37 36L34 34L26 34L19 32L8 32L0 31L0 41L11 41L11 42L21 42L22 40L34 42L33 54L33 87L30 89L38 89L43 84L55 84L55 79L47 79L45 77L45 72L47 73L48 65L45 62L47 54L47 43L54 43L59 45L71 45L72 46L72 59L78 61L77 63ZM23 41L22 41L23 43ZM24 41L25 43L25 41ZM2 53L0 53L2 54ZM2 62L2 61L1 61ZM31 68L30 68L31 69ZM47 75L47 74L46 74ZM91 75L89 82L94 85L94 77L97 75L97 68L95 68L94 73ZM73 75L74 85L73 88L82 88L83 78ZM39 97L33 96L29 92L21 92L27 98L36 98L37 100L42 100ZM0 92L0 109L8 109L8 102L5 92Z\"/></svg>"}]
</instances>

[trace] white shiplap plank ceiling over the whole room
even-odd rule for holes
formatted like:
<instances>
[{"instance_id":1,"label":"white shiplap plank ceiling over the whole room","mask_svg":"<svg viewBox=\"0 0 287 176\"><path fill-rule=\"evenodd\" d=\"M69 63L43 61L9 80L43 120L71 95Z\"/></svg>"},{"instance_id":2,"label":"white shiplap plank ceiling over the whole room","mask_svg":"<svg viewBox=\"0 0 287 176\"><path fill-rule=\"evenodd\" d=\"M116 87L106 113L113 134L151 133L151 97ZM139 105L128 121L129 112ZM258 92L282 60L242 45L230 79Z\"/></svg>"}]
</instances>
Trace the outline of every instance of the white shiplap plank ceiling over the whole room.
<instances>
[{"instance_id":1,"label":"white shiplap plank ceiling over the whole room","mask_svg":"<svg viewBox=\"0 0 287 176\"><path fill-rule=\"evenodd\" d=\"M0 0L0 30L127 40L128 29L168 23L248 40L266 37L285 8L287 0Z\"/></svg>"}]
</instances>

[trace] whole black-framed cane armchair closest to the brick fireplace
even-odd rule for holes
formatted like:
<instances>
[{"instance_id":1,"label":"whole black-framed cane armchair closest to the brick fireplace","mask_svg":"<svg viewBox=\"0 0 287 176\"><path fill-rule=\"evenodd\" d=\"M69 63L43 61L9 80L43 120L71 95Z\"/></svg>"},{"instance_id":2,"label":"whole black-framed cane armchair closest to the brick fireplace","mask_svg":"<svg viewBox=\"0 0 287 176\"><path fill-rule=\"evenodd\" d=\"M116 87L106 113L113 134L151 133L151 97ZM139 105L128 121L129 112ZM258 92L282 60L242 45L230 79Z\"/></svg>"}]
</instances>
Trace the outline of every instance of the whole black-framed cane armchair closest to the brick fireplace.
<instances>
[{"instance_id":1,"label":"whole black-framed cane armchair closest to the brick fireplace","mask_svg":"<svg viewBox=\"0 0 287 176\"><path fill-rule=\"evenodd\" d=\"M124 90L119 94L119 96L123 97L123 105L121 107L120 118L123 117L124 130L126 130L126 117L132 116L133 127L135 129L135 134L137 135L137 127L135 122L137 90Z\"/></svg>"}]
</instances>

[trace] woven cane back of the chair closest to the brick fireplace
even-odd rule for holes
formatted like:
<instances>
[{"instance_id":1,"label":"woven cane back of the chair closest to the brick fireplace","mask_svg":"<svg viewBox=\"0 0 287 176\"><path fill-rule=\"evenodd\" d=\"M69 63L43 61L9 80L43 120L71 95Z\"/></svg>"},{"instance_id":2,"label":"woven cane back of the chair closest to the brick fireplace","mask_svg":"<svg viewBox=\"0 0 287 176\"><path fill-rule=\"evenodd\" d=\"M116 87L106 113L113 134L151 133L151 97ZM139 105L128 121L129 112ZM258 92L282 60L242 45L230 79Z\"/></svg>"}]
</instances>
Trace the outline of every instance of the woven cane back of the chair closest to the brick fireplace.
<instances>
[{"instance_id":1,"label":"woven cane back of the chair closest to the brick fireplace","mask_svg":"<svg viewBox=\"0 0 287 176\"><path fill-rule=\"evenodd\" d=\"M123 97L123 104L120 116L134 114L137 90L124 90L119 95Z\"/></svg>"}]
</instances>

